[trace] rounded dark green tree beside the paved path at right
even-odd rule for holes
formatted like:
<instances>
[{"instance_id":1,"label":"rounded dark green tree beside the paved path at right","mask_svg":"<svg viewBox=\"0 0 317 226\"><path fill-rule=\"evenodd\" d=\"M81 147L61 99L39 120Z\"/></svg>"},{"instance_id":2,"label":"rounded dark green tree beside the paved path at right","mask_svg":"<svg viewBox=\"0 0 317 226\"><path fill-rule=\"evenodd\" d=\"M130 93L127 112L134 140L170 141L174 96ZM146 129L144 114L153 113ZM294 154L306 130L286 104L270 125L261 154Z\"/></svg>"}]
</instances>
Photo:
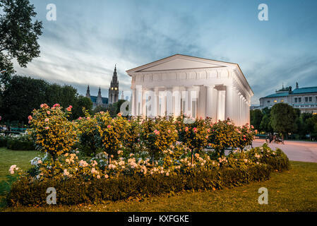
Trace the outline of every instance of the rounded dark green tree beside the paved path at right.
<instances>
[{"instance_id":1,"label":"rounded dark green tree beside the paved path at right","mask_svg":"<svg viewBox=\"0 0 317 226\"><path fill-rule=\"evenodd\" d=\"M285 103L279 103L271 109L271 126L274 131L282 133L282 138L287 133L291 133L297 130L295 123L297 115L294 108Z\"/></svg>"}]
</instances>

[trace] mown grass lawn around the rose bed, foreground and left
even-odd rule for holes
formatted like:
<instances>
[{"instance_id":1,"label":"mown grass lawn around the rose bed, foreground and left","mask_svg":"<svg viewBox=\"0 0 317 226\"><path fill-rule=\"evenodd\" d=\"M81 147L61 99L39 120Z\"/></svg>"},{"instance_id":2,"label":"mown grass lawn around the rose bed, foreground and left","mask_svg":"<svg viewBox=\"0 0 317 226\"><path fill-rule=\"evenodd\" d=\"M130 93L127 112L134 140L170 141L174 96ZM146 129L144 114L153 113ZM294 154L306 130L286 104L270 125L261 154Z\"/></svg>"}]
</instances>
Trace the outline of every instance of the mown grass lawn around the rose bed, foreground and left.
<instances>
[{"instance_id":1,"label":"mown grass lawn around the rose bed, foreground and left","mask_svg":"<svg viewBox=\"0 0 317 226\"><path fill-rule=\"evenodd\" d=\"M8 167L27 168L37 152L0 149L1 178ZM9 157L14 157L12 160ZM10 160L10 162L8 162ZM3 165L6 165L4 167ZM3 208L4 211L317 211L317 163L291 162L287 172L273 172L266 182L217 191L184 192L140 201L116 201L100 205ZM268 189L268 205L258 204L258 189Z\"/></svg>"}]
</instances>

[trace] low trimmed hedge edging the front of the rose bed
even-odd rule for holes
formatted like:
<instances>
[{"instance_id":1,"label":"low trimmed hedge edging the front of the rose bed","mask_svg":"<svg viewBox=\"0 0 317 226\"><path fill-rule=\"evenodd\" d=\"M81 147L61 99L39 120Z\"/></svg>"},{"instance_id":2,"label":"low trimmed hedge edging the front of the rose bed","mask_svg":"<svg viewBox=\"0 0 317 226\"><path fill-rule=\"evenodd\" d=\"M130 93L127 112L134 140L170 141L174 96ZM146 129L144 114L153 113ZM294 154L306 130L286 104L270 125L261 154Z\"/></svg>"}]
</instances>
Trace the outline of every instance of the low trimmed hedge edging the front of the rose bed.
<instances>
[{"instance_id":1,"label":"low trimmed hedge edging the front of the rose bed","mask_svg":"<svg viewBox=\"0 0 317 226\"><path fill-rule=\"evenodd\" d=\"M30 183L27 178L21 178L12 185L6 201L8 206L44 206L47 205L47 188L54 187L59 205L96 204L103 201L156 196L170 192L240 186L251 181L269 179L271 171L272 167L269 165L256 165L248 169L226 168L219 171L215 169L201 172L193 171L190 174L169 177L162 174L148 177L133 175L115 179L94 179L90 182L85 182L83 179L68 179Z\"/></svg>"}]
</instances>

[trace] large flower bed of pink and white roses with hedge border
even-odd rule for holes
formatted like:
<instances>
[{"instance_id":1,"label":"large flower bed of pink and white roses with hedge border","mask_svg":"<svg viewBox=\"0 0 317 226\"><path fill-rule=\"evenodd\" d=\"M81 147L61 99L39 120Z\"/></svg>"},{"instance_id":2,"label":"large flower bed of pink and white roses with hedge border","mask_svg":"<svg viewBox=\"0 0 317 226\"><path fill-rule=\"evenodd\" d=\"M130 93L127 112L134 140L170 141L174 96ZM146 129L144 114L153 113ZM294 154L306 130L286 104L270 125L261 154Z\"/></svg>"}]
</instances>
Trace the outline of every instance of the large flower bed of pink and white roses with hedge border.
<instances>
[{"instance_id":1,"label":"large flower bed of pink and white roses with hedge border","mask_svg":"<svg viewBox=\"0 0 317 226\"><path fill-rule=\"evenodd\" d=\"M44 205L50 186L60 204L71 205L239 186L268 179L272 169L288 169L281 150L263 145L244 151L252 126L229 119L189 124L186 117L112 119L99 112L68 121L69 114L71 106L64 111L44 104L29 117L30 136L46 155L32 160L28 172L18 172L9 205ZM225 148L232 153L225 156ZM92 158L83 156L87 150Z\"/></svg>"}]
</instances>

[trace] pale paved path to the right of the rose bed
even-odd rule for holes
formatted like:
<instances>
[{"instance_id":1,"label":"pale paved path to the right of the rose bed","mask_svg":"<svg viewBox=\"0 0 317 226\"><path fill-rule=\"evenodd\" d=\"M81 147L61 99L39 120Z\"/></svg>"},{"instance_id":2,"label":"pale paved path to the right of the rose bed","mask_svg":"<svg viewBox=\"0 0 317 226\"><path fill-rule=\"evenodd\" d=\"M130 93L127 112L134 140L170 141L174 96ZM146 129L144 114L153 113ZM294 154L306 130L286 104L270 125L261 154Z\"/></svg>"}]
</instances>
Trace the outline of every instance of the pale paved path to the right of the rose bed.
<instances>
[{"instance_id":1,"label":"pale paved path to the right of the rose bed","mask_svg":"<svg viewBox=\"0 0 317 226\"><path fill-rule=\"evenodd\" d=\"M265 139L256 139L253 141L253 147L263 145ZM300 162L317 162L317 142L309 141L284 141L283 144L268 143L270 148L280 148L289 158L289 160Z\"/></svg>"}]
</instances>

